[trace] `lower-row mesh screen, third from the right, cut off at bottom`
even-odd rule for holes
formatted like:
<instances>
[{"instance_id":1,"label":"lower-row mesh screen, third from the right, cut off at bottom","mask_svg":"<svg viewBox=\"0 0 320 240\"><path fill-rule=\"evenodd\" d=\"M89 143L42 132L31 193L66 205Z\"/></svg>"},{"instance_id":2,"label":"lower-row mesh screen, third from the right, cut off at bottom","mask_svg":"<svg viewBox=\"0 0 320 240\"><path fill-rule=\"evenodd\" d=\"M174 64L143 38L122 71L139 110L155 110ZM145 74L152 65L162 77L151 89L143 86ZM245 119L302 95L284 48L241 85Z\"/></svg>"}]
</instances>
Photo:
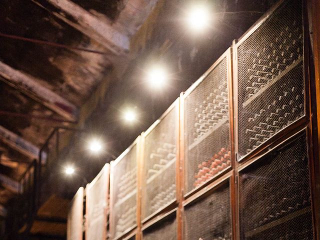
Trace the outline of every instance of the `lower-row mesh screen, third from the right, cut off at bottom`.
<instances>
[{"instance_id":1,"label":"lower-row mesh screen, third from the right, cut off at bottom","mask_svg":"<svg viewBox=\"0 0 320 240\"><path fill-rule=\"evenodd\" d=\"M176 214L161 219L152 226L143 230L143 240L176 240Z\"/></svg>"}]
</instances>

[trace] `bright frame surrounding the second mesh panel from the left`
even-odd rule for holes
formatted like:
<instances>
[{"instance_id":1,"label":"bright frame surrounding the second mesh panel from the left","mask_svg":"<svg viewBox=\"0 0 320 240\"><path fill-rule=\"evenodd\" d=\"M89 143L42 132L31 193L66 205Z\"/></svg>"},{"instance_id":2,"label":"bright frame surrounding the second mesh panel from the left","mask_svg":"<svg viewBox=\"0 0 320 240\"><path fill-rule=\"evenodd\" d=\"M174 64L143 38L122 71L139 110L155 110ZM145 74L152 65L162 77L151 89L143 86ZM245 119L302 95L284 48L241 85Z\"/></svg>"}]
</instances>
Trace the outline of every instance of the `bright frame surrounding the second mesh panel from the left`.
<instances>
[{"instance_id":1,"label":"bright frame surrounding the second mesh panel from the left","mask_svg":"<svg viewBox=\"0 0 320 240\"><path fill-rule=\"evenodd\" d=\"M105 195L104 195L104 204L102 205L102 212L103 212L103 222L102 225L104 226L104 230L101 236L101 240L106 239L107 236L107 220L108 220L108 211L109 211L109 174L110 174L110 164L106 163L103 167L102 170L96 175L96 177L94 177L94 179L88 183L85 187L85 239L86 240L90 240L89 239L89 225L90 225L90 218L89 218L89 208L92 207L91 203L91 194L90 194L90 190L94 187L95 183L98 180L102 180L102 182L104 183L103 186L105 186L106 190L105 190ZM95 208L95 206L93 206L93 208ZM96 230L96 228L93 229L94 231ZM91 239L93 240L93 239ZM94 238L94 240L96 240L96 238Z\"/></svg>"}]
</instances>

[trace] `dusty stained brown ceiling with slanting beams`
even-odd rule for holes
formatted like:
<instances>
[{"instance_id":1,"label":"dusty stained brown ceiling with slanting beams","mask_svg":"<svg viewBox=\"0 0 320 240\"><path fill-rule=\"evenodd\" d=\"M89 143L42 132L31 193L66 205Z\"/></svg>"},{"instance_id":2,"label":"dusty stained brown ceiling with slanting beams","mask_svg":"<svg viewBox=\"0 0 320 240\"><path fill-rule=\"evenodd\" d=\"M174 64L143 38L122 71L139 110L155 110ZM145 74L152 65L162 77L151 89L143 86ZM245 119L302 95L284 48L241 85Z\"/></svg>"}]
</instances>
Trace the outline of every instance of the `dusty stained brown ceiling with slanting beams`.
<instances>
[{"instance_id":1,"label":"dusty stained brown ceiling with slanting beams","mask_svg":"<svg viewBox=\"0 0 320 240\"><path fill-rule=\"evenodd\" d=\"M93 92L109 84L155 2L0 1L2 217L53 127L74 125Z\"/></svg>"}]
</instances>

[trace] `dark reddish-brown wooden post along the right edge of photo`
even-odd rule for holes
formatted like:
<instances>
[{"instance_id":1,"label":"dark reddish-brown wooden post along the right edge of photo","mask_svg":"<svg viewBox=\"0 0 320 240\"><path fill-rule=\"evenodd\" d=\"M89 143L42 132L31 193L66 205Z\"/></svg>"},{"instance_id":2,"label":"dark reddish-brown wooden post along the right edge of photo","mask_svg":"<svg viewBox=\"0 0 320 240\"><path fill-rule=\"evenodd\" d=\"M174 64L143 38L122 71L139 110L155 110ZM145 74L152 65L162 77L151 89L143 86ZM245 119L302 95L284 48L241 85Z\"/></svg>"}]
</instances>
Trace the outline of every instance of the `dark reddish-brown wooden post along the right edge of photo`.
<instances>
[{"instance_id":1,"label":"dark reddish-brown wooden post along the right edge of photo","mask_svg":"<svg viewBox=\"0 0 320 240\"><path fill-rule=\"evenodd\" d=\"M313 1L313 0L312 0ZM313 2L313 7L316 3ZM303 28L304 28L304 48L305 48L305 77L307 77L307 109L308 112L308 123L307 123L307 136L308 136L308 157L309 161L309 175L310 175L310 191L311 191L311 209L312 209L312 224L313 224L313 234L315 239L320 240L320 161L319 161L319 128L318 123L320 119L318 115L320 114L320 109L317 108L320 95L318 90L320 89L320 82L318 78L319 74L319 62L318 62L318 53L320 52L319 48L314 48L319 44L320 36L319 33L319 24L318 21L314 19L315 14L319 12L311 7L310 1L304 0L304 10L303 10ZM320 2L317 2L317 6L320 6ZM313 10L313 11L311 11ZM315 10L315 12L314 12ZM311 15L312 19L309 18ZM313 22L313 23L312 23ZM312 26L311 28L309 26ZM314 31L315 38L313 38L313 54L310 38L310 31ZM312 59L312 55L314 59Z\"/></svg>"}]
</instances>

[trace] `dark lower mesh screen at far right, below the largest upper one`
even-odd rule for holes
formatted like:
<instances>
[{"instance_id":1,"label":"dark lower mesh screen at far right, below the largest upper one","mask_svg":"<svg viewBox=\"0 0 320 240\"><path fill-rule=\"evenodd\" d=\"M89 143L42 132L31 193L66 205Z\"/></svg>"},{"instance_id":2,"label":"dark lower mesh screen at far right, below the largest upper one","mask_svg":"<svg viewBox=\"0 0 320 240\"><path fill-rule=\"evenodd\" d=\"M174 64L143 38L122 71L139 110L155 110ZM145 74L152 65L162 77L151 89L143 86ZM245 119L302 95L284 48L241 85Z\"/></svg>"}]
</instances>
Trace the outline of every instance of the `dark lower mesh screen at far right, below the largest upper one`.
<instances>
[{"instance_id":1,"label":"dark lower mesh screen at far right, below the largest upper one","mask_svg":"<svg viewBox=\"0 0 320 240\"><path fill-rule=\"evenodd\" d=\"M241 239L313 239L305 132L239 173Z\"/></svg>"}]
</instances>

